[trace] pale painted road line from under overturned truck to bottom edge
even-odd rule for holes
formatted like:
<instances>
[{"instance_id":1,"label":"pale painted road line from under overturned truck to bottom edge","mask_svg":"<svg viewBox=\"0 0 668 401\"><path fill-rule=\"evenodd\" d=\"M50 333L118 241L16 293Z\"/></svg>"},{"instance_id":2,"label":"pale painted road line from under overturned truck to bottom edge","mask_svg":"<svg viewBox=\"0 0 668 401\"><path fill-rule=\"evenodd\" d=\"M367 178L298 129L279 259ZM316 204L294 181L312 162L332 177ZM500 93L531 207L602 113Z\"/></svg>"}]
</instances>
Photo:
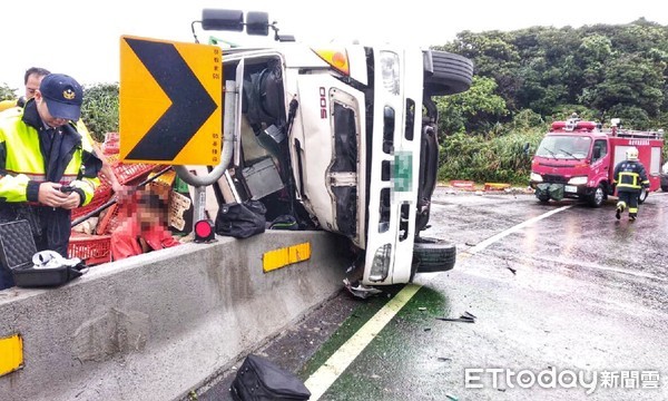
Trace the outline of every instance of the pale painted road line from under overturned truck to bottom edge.
<instances>
[{"instance_id":1,"label":"pale painted road line from under overturned truck to bottom edge","mask_svg":"<svg viewBox=\"0 0 668 401\"><path fill-rule=\"evenodd\" d=\"M316 401L327 391L334 381L336 381L421 287L422 285L419 284L407 284L403 287L306 380L305 385L311 391L310 400Z\"/></svg>"}]
</instances>

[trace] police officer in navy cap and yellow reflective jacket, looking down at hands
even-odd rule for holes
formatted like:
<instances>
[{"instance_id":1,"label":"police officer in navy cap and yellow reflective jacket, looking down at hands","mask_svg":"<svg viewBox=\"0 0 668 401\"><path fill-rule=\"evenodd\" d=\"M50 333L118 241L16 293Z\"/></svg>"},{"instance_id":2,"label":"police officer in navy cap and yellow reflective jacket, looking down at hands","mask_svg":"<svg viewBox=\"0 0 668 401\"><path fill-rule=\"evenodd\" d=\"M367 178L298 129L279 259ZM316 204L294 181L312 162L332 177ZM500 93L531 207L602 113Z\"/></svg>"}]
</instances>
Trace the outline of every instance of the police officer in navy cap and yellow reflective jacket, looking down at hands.
<instances>
[{"instance_id":1,"label":"police officer in navy cap and yellow reflective jacket, looking down at hands","mask_svg":"<svg viewBox=\"0 0 668 401\"><path fill-rule=\"evenodd\" d=\"M102 164L77 131L84 90L71 77L46 76L35 98L0 117L0 223L27 219L37 251L67 257L70 211L92 199ZM0 290L13 285L0 266Z\"/></svg>"}]
</instances>

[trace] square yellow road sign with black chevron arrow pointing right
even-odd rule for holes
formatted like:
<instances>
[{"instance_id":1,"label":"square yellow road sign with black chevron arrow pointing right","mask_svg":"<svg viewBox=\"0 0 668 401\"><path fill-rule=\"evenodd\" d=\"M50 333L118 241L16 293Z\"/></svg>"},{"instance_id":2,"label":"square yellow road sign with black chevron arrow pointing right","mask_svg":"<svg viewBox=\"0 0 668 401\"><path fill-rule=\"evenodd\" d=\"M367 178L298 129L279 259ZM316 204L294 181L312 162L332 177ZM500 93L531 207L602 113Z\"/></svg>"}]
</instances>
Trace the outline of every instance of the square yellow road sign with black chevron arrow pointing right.
<instances>
[{"instance_id":1,"label":"square yellow road sign with black chevron arrow pointing right","mask_svg":"<svg viewBox=\"0 0 668 401\"><path fill-rule=\"evenodd\" d=\"M217 165L223 140L220 48L120 40L120 159Z\"/></svg>"}]
</instances>

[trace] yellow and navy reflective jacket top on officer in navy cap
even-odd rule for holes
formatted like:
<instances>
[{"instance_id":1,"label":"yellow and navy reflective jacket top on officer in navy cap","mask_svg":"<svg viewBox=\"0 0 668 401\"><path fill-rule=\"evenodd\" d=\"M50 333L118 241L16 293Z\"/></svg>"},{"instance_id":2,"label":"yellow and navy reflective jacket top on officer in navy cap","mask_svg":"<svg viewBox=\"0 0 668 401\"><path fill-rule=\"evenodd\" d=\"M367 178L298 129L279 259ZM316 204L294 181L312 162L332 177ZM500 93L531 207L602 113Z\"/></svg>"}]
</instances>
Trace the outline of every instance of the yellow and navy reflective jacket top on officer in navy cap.
<instances>
[{"instance_id":1,"label":"yellow and navy reflective jacket top on officer in navy cap","mask_svg":"<svg viewBox=\"0 0 668 401\"><path fill-rule=\"evenodd\" d=\"M47 166L40 146L40 135L48 135L43 130L33 101L0 114L0 202L35 203L39 184L50 180L80 189L80 206L87 205L100 183L101 168L90 136L80 135L75 124L60 127L59 151L51 151Z\"/></svg>"}]
</instances>

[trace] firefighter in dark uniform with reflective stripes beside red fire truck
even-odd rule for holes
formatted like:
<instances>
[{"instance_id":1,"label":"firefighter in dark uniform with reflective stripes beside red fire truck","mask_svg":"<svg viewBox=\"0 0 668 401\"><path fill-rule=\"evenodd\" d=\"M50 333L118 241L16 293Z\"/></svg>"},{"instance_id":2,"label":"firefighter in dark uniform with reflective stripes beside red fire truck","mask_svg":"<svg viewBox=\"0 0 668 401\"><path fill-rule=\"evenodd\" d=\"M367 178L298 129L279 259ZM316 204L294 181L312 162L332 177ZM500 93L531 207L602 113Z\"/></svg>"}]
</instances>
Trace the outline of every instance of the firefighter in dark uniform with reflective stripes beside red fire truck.
<instances>
[{"instance_id":1,"label":"firefighter in dark uniform with reflective stripes beside red fire truck","mask_svg":"<svg viewBox=\"0 0 668 401\"><path fill-rule=\"evenodd\" d=\"M612 184L617 186L617 212L615 217L621 218L621 214L628 207L629 219L635 221L638 216L638 197L642 188L649 188L649 179L645 166L638 160L638 149L631 147L626 151L627 159L615 167Z\"/></svg>"}]
</instances>

